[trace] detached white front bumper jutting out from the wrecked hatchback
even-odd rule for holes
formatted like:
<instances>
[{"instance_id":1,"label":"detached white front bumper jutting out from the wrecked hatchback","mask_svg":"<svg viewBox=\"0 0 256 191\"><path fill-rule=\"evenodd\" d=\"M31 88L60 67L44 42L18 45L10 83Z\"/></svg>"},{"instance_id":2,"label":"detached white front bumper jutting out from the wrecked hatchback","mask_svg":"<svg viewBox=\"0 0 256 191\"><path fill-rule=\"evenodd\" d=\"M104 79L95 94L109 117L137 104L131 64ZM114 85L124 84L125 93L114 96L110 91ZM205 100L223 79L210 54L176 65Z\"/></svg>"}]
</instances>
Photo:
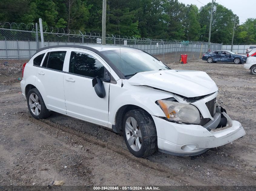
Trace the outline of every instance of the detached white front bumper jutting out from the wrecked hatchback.
<instances>
[{"instance_id":1,"label":"detached white front bumper jutting out from the wrecked hatchback","mask_svg":"<svg viewBox=\"0 0 256 191\"><path fill-rule=\"evenodd\" d=\"M225 115L229 126L210 131L200 125L172 123L152 116L157 129L159 151L178 156L193 156L245 135L241 123L232 121L226 113Z\"/></svg>"}]
</instances>

